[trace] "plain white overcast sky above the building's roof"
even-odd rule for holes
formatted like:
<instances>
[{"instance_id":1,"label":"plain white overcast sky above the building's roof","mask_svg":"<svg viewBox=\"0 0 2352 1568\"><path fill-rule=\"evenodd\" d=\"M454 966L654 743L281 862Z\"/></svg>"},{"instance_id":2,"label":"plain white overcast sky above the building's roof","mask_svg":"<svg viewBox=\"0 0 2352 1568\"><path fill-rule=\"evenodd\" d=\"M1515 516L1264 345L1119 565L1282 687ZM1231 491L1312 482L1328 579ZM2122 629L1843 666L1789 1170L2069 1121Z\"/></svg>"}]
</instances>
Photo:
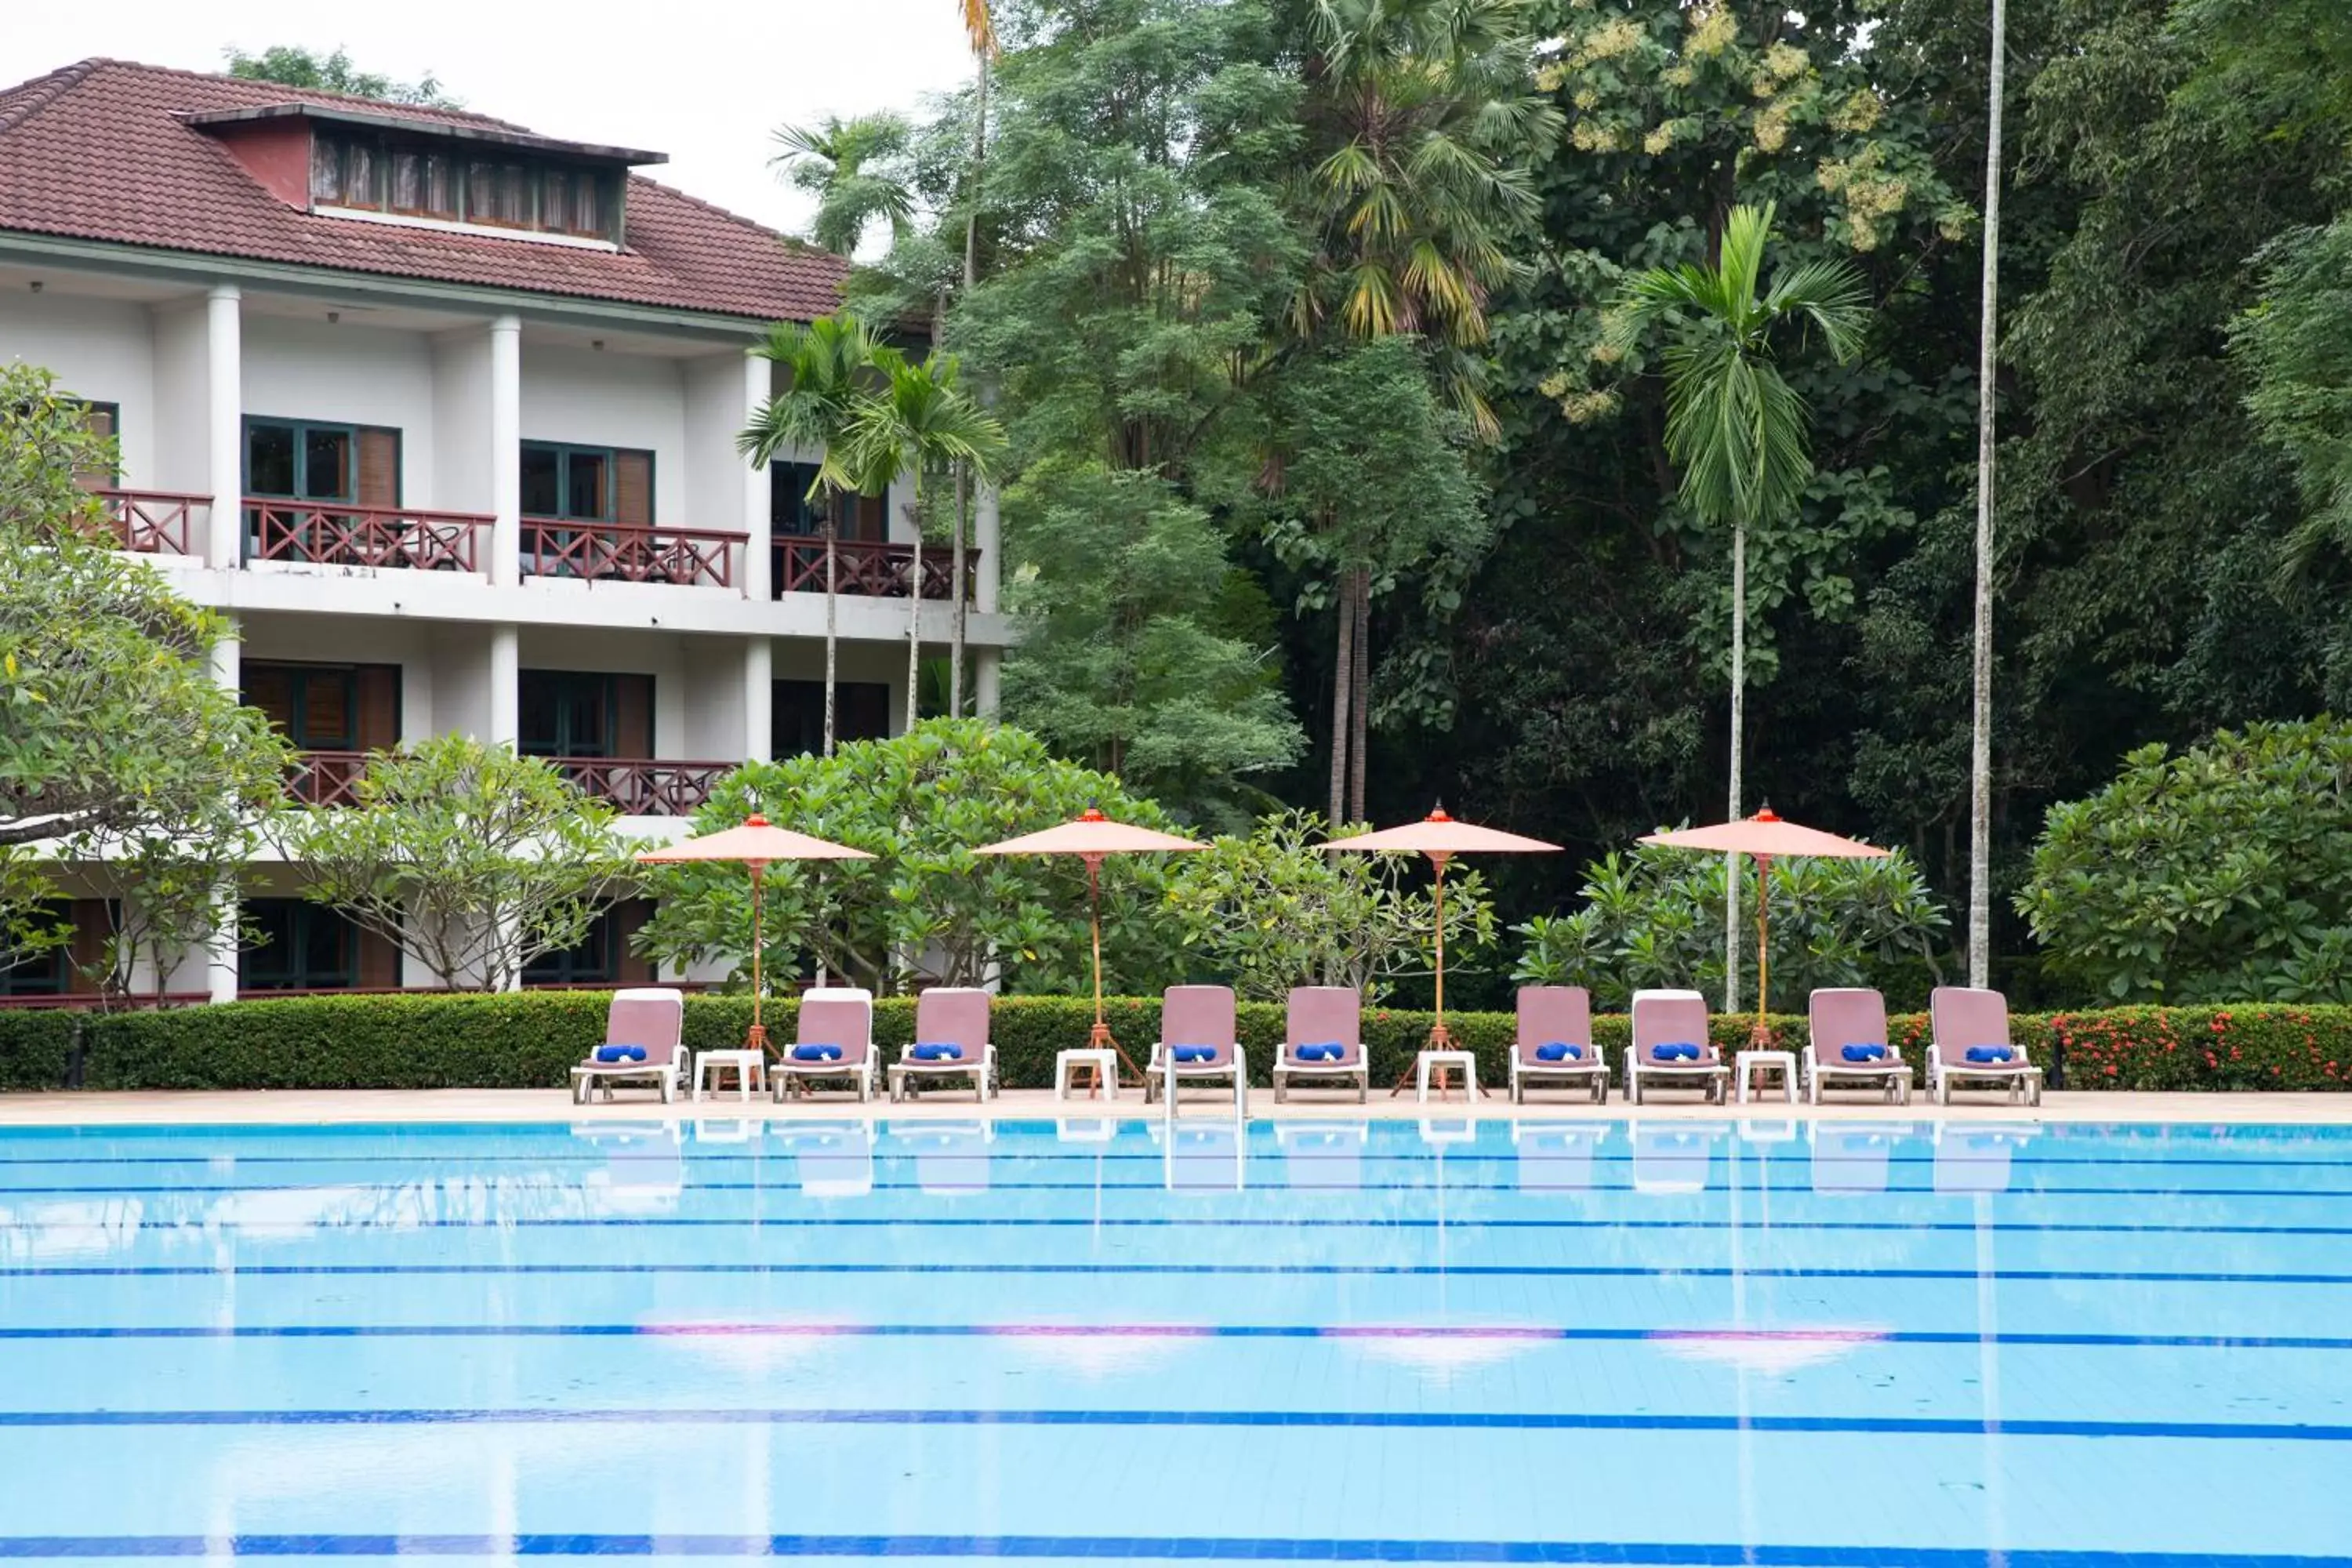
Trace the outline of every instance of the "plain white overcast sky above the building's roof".
<instances>
[{"instance_id":1,"label":"plain white overcast sky above the building's roof","mask_svg":"<svg viewBox=\"0 0 2352 1568\"><path fill-rule=\"evenodd\" d=\"M767 167L769 132L821 115L913 110L971 75L955 0L101 0L5 5L0 85L92 54L221 71L238 45L350 49L393 80L435 73L466 108L548 136L668 153L644 169L797 230L809 202Z\"/></svg>"}]
</instances>

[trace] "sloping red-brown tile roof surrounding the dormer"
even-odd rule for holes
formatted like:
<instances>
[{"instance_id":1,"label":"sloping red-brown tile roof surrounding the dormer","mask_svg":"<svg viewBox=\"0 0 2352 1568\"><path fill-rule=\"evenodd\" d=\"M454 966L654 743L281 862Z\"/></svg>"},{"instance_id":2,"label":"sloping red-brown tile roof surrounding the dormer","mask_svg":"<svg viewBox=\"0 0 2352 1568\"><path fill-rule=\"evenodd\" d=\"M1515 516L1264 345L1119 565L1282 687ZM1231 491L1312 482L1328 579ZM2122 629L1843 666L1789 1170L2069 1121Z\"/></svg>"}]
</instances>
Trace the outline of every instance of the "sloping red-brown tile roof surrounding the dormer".
<instances>
[{"instance_id":1,"label":"sloping red-brown tile roof surrounding the dormer","mask_svg":"<svg viewBox=\"0 0 2352 1568\"><path fill-rule=\"evenodd\" d=\"M0 89L0 233L68 235L336 273L564 294L668 310L809 320L840 306L847 263L663 183L628 179L619 254L289 207L181 115L355 99L87 59ZM466 110L402 118L520 129Z\"/></svg>"}]
</instances>

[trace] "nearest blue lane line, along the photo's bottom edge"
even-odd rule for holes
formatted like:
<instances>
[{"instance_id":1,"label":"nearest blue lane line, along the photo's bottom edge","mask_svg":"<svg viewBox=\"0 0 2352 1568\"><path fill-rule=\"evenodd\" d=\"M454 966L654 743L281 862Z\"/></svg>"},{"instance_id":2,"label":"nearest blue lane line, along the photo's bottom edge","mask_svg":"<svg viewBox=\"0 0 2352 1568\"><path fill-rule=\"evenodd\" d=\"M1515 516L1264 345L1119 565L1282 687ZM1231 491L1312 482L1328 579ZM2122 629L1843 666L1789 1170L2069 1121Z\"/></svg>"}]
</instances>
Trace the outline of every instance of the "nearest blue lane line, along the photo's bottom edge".
<instances>
[{"instance_id":1,"label":"nearest blue lane line, along the photo's bottom edge","mask_svg":"<svg viewBox=\"0 0 2352 1568\"><path fill-rule=\"evenodd\" d=\"M0 1535L0 1559L94 1556L826 1556L1308 1563L1604 1563L1616 1568L2352 1568L2286 1552L1856 1547L1362 1535Z\"/></svg>"}]
</instances>

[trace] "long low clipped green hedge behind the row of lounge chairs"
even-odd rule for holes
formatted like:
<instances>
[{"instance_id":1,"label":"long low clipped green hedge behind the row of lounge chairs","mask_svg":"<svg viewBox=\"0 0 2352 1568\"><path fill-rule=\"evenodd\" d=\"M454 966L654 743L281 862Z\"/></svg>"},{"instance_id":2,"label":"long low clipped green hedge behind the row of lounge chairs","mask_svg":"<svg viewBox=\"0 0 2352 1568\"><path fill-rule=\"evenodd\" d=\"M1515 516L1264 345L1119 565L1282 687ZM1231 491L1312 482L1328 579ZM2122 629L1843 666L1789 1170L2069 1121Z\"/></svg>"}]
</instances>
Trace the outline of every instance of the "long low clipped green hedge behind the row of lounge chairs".
<instances>
[{"instance_id":1,"label":"long low clipped green hedge behind the row of lounge chairs","mask_svg":"<svg viewBox=\"0 0 2352 1568\"><path fill-rule=\"evenodd\" d=\"M87 1088L555 1088L604 1037L607 997L524 992L513 997L287 997L134 1013L0 1011L0 1088L54 1088L68 1081L80 1037ZM1105 1004L1112 1032L1141 1060L1160 1025L1155 999ZM1077 997L1004 997L995 1041L1004 1081L1040 1088L1054 1053L1082 1046L1094 1013ZM793 1004L767 1009L776 1039L790 1039ZM748 997L689 997L687 1044L741 1044ZM1454 1013L1458 1046L1477 1051L1479 1077L1505 1079L1508 1013ZM1776 1016L1783 1041L1804 1039L1804 1020ZM2042 1063L2065 1063L2070 1088L2345 1088L2352 1086L2352 1009L2105 1009L2016 1013L2016 1039ZM915 1004L875 1004L875 1039L896 1058L913 1039ZM1724 1046L1748 1041L1750 1018L1712 1020ZM1893 1041L1922 1063L1926 1016L1891 1020ZM1374 1081L1406 1070L1430 1032L1430 1016L1374 1009L1364 1016ZM1595 1020L1595 1044L1611 1063L1625 1046L1625 1018ZM1282 1037L1282 1009L1242 1004L1242 1044L1261 1084Z\"/></svg>"}]
</instances>

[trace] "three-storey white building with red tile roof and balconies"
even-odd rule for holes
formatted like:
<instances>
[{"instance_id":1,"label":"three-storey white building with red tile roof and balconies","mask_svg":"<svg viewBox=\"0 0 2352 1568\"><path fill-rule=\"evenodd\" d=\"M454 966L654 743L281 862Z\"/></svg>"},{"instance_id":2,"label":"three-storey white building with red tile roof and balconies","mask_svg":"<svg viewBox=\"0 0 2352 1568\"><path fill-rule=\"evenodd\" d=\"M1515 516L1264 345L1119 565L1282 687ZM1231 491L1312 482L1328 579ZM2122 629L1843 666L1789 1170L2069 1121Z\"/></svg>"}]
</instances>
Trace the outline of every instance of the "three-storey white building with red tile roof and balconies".
<instances>
[{"instance_id":1,"label":"three-storey white building with red tile roof and balconies","mask_svg":"<svg viewBox=\"0 0 2352 1568\"><path fill-rule=\"evenodd\" d=\"M221 679L308 752L308 799L372 748L466 731L675 837L727 769L814 745L809 470L750 468L736 433L769 395L748 346L830 313L842 263L633 174L659 162L120 61L0 92L0 360L49 367L118 435L122 545L235 618ZM910 599L908 538L880 501L842 534L844 738L903 729L913 609L948 637L948 550ZM983 712L995 543L981 515ZM242 990L402 980L327 912L249 910L266 950L169 987L230 997L240 961ZM628 978L630 919L548 978Z\"/></svg>"}]
</instances>

